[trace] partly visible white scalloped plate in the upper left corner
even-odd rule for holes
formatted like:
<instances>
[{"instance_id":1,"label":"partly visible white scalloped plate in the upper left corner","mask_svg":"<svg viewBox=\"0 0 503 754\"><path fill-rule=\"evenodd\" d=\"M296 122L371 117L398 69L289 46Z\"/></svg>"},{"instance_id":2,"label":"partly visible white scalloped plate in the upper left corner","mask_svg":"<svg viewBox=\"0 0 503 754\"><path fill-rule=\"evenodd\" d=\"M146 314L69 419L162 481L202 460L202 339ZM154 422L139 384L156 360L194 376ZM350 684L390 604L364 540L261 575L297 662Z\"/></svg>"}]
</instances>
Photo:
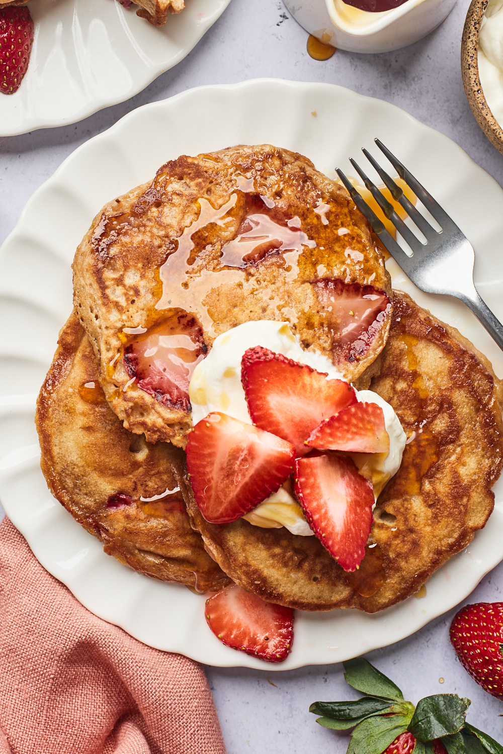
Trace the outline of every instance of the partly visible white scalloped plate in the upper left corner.
<instances>
[{"instance_id":1,"label":"partly visible white scalloped plate in the upper left corner","mask_svg":"<svg viewBox=\"0 0 503 754\"><path fill-rule=\"evenodd\" d=\"M116 0L35 0L26 78L0 97L0 136L63 126L129 100L179 63L230 0L186 0L155 29Z\"/></svg>"}]
</instances>

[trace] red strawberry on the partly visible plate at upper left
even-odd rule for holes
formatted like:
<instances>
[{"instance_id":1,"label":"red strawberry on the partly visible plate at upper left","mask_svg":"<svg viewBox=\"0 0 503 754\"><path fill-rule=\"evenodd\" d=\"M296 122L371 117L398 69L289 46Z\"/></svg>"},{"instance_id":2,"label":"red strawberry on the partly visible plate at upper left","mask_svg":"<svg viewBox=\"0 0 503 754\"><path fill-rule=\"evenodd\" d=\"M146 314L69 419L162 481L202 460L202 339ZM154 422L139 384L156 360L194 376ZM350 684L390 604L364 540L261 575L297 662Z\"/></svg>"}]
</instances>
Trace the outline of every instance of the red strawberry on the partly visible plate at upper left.
<instances>
[{"instance_id":1,"label":"red strawberry on the partly visible plate at upper left","mask_svg":"<svg viewBox=\"0 0 503 754\"><path fill-rule=\"evenodd\" d=\"M33 21L28 8L11 5L0 10L0 91L14 94L28 70Z\"/></svg>"}]
</instances>

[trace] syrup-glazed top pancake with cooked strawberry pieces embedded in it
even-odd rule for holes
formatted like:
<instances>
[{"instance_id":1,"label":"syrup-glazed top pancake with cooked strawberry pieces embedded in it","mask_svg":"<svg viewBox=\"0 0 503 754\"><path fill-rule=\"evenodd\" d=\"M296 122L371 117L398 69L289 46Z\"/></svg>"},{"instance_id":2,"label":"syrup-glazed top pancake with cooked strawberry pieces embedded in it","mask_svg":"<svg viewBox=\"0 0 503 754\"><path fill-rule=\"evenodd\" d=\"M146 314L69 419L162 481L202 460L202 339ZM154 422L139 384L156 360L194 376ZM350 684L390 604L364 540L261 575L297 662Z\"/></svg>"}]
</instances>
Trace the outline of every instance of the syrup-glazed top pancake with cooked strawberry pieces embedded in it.
<instances>
[{"instance_id":1,"label":"syrup-glazed top pancake with cooked strawberry pieces embedded in it","mask_svg":"<svg viewBox=\"0 0 503 754\"><path fill-rule=\"evenodd\" d=\"M391 321L382 254L345 189L269 145L167 162L103 207L73 271L110 406L130 431L181 447L190 375L220 333L287 321L353 381Z\"/></svg>"}]
</instances>

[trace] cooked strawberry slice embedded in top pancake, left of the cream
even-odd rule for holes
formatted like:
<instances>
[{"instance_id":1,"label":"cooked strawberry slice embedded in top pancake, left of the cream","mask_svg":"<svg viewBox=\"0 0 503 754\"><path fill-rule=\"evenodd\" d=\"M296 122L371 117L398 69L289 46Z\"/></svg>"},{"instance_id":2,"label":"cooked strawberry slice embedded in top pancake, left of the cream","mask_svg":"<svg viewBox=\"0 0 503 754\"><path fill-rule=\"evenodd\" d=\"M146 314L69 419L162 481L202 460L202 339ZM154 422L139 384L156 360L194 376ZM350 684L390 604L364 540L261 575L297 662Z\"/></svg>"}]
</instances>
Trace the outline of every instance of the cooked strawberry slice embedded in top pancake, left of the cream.
<instances>
[{"instance_id":1,"label":"cooked strawberry slice embedded in top pancake, left of the cream","mask_svg":"<svg viewBox=\"0 0 503 754\"><path fill-rule=\"evenodd\" d=\"M198 320L176 310L127 346L124 366L138 387L163 406L190 411L189 381L206 352Z\"/></svg>"}]
</instances>

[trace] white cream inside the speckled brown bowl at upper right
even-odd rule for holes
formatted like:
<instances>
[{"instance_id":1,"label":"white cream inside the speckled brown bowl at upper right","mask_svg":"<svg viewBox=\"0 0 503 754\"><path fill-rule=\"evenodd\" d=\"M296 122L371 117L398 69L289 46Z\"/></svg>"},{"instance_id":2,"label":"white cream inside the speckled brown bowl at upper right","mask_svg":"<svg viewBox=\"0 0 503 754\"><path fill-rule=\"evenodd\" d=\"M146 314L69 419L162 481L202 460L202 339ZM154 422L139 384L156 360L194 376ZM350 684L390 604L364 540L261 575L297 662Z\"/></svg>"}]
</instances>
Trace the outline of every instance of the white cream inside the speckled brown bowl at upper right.
<instances>
[{"instance_id":1,"label":"white cream inside the speckled brown bowl at upper right","mask_svg":"<svg viewBox=\"0 0 503 754\"><path fill-rule=\"evenodd\" d=\"M477 52L480 84L489 109L503 127L503 0L489 0Z\"/></svg>"}]
</instances>

